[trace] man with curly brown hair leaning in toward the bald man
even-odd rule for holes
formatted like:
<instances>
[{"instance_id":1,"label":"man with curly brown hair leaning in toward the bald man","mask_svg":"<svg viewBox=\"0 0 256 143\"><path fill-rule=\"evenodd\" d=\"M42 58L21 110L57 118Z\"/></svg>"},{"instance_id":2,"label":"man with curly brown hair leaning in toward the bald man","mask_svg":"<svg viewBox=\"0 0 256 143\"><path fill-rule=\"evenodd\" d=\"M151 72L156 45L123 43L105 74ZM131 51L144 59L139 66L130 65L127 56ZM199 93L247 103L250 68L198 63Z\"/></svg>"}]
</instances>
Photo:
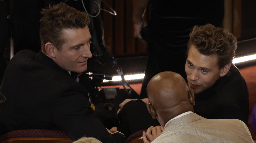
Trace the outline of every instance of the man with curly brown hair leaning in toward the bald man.
<instances>
[{"instance_id":1,"label":"man with curly brown hair leaning in toward the bald man","mask_svg":"<svg viewBox=\"0 0 256 143\"><path fill-rule=\"evenodd\" d=\"M211 119L240 119L248 124L249 97L245 79L232 64L237 40L211 24L190 32L185 71L195 93L194 112Z\"/></svg>"}]
</instances>

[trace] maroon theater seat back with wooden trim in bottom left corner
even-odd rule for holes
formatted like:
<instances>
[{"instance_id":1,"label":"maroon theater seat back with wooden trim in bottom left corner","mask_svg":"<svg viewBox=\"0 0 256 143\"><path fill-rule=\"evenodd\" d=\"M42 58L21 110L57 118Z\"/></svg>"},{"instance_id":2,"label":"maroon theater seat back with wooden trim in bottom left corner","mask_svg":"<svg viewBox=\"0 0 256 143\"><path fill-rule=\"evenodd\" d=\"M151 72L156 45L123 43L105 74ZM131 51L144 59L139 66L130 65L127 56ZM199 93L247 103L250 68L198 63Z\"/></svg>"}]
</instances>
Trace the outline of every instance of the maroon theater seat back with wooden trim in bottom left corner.
<instances>
[{"instance_id":1,"label":"maroon theater seat back with wooden trim in bottom left corner","mask_svg":"<svg viewBox=\"0 0 256 143\"><path fill-rule=\"evenodd\" d=\"M72 143L62 130L15 130L0 136L0 143Z\"/></svg>"}]
</instances>

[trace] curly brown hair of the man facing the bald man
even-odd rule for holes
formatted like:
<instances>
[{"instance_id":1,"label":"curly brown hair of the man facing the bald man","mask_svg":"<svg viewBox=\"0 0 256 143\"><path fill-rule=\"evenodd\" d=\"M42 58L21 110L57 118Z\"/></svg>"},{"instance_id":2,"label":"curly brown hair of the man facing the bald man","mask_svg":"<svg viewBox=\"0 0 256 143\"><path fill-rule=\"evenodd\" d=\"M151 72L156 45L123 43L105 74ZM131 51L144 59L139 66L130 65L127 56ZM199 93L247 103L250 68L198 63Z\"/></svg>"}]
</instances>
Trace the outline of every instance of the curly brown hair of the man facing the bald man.
<instances>
[{"instance_id":1,"label":"curly brown hair of the man facing the bald man","mask_svg":"<svg viewBox=\"0 0 256 143\"><path fill-rule=\"evenodd\" d=\"M223 68L232 63L237 49L237 39L228 30L211 24L194 26L190 32L188 50L194 45L203 55L217 54L218 66Z\"/></svg>"}]
</instances>

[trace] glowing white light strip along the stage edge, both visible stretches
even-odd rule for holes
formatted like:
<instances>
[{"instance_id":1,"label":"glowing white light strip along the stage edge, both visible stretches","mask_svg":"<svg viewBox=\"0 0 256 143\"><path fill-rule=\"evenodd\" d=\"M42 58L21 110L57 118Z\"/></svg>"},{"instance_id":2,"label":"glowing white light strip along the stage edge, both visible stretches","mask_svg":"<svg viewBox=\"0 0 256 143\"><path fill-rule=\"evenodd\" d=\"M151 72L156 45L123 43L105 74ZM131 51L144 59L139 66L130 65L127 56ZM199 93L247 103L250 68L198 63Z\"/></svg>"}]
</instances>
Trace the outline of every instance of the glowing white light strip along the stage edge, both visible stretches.
<instances>
[{"instance_id":1,"label":"glowing white light strip along the stage edge, both visible stretches","mask_svg":"<svg viewBox=\"0 0 256 143\"><path fill-rule=\"evenodd\" d=\"M254 55L248 55L248 56L243 56L239 58L234 58L233 59L233 64L245 62L245 61L250 61L250 60L255 60L256 59L256 54ZM124 79L125 80L135 80L135 79L143 79L145 77L145 74L134 74L134 75L125 75ZM113 76L111 81L121 81L122 78L121 76ZM110 80L103 80L103 82L109 82Z\"/></svg>"}]
</instances>

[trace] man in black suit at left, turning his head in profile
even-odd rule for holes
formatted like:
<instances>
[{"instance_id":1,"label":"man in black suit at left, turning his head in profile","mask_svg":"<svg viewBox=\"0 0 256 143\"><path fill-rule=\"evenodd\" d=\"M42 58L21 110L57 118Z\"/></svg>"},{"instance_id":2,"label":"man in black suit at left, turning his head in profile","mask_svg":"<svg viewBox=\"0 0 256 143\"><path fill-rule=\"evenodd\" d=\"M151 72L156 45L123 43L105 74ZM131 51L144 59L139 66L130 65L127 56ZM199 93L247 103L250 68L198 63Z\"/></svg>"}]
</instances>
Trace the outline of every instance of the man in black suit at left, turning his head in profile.
<instances>
[{"instance_id":1,"label":"man in black suit at left, turning his head in profile","mask_svg":"<svg viewBox=\"0 0 256 143\"><path fill-rule=\"evenodd\" d=\"M2 133L62 129L74 141L86 136L104 143L124 142L116 127L104 127L90 107L87 91L71 76L86 71L92 57L90 17L65 3L41 13L41 51L18 52L5 71L0 89L6 97L1 104Z\"/></svg>"}]
</instances>

